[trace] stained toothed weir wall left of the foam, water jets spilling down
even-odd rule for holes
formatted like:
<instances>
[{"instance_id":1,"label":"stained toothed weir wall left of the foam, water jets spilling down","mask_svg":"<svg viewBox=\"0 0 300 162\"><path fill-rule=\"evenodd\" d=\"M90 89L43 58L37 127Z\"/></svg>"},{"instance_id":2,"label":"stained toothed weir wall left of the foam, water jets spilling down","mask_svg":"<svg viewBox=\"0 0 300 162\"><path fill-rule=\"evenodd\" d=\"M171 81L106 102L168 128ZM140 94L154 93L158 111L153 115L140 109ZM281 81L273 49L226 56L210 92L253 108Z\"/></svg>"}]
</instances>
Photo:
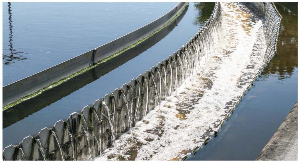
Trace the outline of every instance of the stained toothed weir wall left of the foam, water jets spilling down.
<instances>
[{"instance_id":1,"label":"stained toothed weir wall left of the foam, water jets spilling down","mask_svg":"<svg viewBox=\"0 0 300 162\"><path fill-rule=\"evenodd\" d=\"M98 156L184 83L221 28L221 7L216 2L206 24L177 52L81 112L43 128L35 137L25 137L19 145L5 147L3 159L90 160Z\"/></svg>"}]
</instances>

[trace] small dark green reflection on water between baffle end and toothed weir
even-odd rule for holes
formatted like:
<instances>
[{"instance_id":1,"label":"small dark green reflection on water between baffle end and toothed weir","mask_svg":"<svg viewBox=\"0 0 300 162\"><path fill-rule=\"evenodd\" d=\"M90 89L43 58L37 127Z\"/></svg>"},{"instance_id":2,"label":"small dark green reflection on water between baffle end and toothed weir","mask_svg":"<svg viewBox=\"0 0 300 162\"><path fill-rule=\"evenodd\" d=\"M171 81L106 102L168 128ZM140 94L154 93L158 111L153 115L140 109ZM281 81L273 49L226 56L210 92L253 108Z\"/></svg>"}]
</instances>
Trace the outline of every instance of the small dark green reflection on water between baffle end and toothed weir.
<instances>
[{"instance_id":1,"label":"small dark green reflection on water between baffle end and toothed weir","mask_svg":"<svg viewBox=\"0 0 300 162\"><path fill-rule=\"evenodd\" d=\"M198 14L193 20L193 24L199 25L201 28L210 17L212 13L211 8L214 8L214 2L194 2L194 7L197 9Z\"/></svg>"}]
</instances>

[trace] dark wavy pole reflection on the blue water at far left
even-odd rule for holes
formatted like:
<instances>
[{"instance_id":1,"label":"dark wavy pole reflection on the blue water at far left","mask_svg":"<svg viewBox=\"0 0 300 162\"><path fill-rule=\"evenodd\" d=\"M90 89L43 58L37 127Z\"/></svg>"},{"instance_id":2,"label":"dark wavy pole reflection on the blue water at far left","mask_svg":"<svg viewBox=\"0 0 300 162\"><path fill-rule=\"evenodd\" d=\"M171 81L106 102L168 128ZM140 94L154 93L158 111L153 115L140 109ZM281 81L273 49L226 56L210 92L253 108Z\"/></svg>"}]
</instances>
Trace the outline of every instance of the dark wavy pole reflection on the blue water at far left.
<instances>
[{"instance_id":1,"label":"dark wavy pole reflection on the blue water at far left","mask_svg":"<svg viewBox=\"0 0 300 162\"><path fill-rule=\"evenodd\" d=\"M12 25L12 14L11 14L11 3L7 3L8 6L8 25L9 25L9 49L3 49L2 62L5 65L11 65L14 63L14 60L26 60L26 56L22 54L28 54L27 50L16 50L13 45L13 25Z\"/></svg>"}]
</instances>

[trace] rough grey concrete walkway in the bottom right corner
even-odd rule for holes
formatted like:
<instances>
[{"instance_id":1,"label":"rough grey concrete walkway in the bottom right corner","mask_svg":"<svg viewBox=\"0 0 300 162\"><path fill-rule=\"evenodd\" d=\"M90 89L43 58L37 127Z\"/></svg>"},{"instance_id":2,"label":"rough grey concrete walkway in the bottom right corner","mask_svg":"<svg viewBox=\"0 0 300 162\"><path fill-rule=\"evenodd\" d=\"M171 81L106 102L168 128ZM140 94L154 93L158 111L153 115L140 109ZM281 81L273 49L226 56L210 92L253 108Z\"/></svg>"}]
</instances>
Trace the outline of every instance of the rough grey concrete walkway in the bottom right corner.
<instances>
[{"instance_id":1,"label":"rough grey concrete walkway in the bottom right corner","mask_svg":"<svg viewBox=\"0 0 300 162\"><path fill-rule=\"evenodd\" d=\"M256 160L297 160L298 102Z\"/></svg>"}]
</instances>

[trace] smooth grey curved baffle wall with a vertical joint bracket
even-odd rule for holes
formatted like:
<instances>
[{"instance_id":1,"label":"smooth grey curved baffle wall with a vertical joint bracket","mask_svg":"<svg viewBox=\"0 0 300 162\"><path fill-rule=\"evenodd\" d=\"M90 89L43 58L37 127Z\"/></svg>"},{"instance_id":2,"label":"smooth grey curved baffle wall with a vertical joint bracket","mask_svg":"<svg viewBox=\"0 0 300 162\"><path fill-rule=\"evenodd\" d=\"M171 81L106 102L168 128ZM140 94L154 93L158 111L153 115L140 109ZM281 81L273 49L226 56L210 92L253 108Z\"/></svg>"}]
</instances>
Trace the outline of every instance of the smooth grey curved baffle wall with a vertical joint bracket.
<instances>
[{"instance_id":1,"label":"smooth grey curved baffle wall with a vertical joint bracket","mask_svg":"<svg viewBox=\"0 0 300 162\"><path fill-rule=\"evenodd\" d=\"M25 96L38 92L41 89L48 87L70 75L75 74L83 69L86 69L95 63L104 60L108 57L113 57L116 53L132 46L140 40L155 34L155 31L167 25L180 13L187 2L180 2L166 13L164 16L155 21L128 33L116 40L106 43L96 49L92 49L84 54L73 57L70 60L64 61L58 65L52 66L34 75L26 77L22 80L11 83L2 88L3 90L3 104L9 105L13 102L22 99Z\"/></svg>"}]
</instances>

